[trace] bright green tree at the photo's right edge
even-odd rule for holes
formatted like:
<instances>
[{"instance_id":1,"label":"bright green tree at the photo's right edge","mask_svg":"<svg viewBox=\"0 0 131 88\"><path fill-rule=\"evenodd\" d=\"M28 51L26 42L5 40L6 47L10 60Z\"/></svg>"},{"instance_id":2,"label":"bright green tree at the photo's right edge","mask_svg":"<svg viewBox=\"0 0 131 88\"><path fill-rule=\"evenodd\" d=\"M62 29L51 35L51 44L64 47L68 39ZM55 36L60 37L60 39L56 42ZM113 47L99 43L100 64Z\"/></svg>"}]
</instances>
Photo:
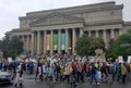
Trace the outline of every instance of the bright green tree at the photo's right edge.
<instances>
[{"instance_id":1,"label":"bright green tree at the photo's right edge","mask_svg":"<svg viewBox=\"0 0 131 88\"><path fill-rule=\"evenodd\" d=\"M110 54L109 54L110 53ZM122 55L124 60L127 60L128 55L131 55L131 29L128 30L127 34L119 36L108 49L107 56L117 58L118 55Z\"/></svg>"}]
</instances>

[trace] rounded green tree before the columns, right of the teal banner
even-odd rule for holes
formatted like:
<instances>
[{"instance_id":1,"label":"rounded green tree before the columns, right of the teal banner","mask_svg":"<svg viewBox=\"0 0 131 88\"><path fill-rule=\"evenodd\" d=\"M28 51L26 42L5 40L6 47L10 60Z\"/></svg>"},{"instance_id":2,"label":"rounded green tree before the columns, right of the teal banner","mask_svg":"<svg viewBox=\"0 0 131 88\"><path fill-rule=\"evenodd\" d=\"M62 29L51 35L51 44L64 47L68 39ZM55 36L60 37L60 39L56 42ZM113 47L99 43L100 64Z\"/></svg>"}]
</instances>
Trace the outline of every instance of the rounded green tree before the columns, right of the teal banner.
<instances>
[{"instance_id":1,"label":"rounded green tree before the columns, right of the teal banner","mask_svg":"<svg viewBox=\"0 0 131 88\"><path fill-rule=\"evenodd\" d=\"M97 48L105 50L104 40L100 38L90 38L87 35L83 35L79 38L75 46L79 55L95 55Z\"/></svg>"}]
</instances>

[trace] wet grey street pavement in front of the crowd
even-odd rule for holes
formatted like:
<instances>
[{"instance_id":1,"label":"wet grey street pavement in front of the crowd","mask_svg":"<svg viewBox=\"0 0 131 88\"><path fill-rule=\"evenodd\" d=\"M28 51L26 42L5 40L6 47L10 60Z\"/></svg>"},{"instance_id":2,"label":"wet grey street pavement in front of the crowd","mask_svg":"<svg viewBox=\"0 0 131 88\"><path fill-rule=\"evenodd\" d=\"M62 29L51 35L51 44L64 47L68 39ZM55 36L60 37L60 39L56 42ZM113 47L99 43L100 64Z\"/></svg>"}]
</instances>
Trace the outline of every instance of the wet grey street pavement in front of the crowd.
<instances>
[{"instance_id":1,"label":"wet grey street pavement in front of the crowd","mask_svg":"<svg viewBox=\"0 0 131 88\"><path fill-rule=\"evenodd\" d=\"M99 86L90 85L86 79L84 84L79 83L76 88L130 88L131 81L127 84L121 84L115 81L111 86L107 83L102 83ZM1 86L0 88L14 88L14 85ZM17 87L20 88L20 87ZM34 75L24 76L23 88L70 88L70 85L67 81L47 83L45 80L38 81L34 79Z\"/></svg>"}]
</instances>

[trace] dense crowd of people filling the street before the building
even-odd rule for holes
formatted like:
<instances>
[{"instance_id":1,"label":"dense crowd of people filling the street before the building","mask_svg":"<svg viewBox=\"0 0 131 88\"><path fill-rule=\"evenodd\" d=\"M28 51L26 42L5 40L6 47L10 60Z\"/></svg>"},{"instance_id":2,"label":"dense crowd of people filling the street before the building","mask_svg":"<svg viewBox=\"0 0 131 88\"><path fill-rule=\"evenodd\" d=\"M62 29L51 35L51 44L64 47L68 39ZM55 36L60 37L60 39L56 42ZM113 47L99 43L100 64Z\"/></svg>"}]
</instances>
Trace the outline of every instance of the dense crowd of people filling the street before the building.
<instances>
[{"instance_id":1,"label":"dense crowd of people filling the street before the building","mask_svg":"<svg viewBox=\"0 0 131 88\"><path fill-rule=\"evenodd\" d=\"M103 59L91 60L79 55L44 55L37 59L37 63L29 62L0 62L0 70L13 74L20 67L19 74L23 72L35 74L35 80L45 79L47 83L67 81L71 87L79 83L100 85L103 83L120 81L126 84L131 80L131 63L107 62Z\"/></svg>"}]
</instances>

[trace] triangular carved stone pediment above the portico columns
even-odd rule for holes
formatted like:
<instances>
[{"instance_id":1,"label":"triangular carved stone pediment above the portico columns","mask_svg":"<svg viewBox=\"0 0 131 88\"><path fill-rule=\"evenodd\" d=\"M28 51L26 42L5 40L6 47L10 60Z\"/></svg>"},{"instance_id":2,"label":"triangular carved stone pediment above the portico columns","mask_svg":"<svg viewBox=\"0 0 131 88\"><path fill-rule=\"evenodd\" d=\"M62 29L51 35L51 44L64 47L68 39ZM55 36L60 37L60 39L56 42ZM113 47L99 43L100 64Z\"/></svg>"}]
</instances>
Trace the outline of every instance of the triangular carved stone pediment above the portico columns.
<instances>
[{"instance_id":1,"label":"triangular carved stone pediment above the portico columns","mask_svg":"<svg viewBox=\"0 0 131 88\"><path fill-rule=\"evenodd\" d=\"M82 23L83 18L53 12L45 17L31 23L31 26L60 25L69 23Z\"/></svg>"}]
</instances>

